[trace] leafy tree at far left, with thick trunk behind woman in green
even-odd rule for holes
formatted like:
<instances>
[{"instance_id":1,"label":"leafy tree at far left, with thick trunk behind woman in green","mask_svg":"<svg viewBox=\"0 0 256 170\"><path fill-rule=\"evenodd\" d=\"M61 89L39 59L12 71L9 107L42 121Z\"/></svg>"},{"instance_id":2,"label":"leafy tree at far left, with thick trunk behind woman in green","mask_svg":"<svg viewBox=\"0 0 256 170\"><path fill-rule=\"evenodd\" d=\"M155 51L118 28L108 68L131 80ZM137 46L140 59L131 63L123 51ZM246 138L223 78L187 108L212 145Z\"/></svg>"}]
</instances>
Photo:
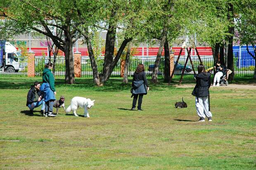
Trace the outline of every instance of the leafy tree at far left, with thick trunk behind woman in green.
<instances>
[{"instance_id":1,"label":"leafy tree at far left, with thick trunk behind woman in green","mask_svg":"<svg viewBox=\"0 0 256 170\"><path fill-rule=\"evenodd\" d=\"M94 0L6 0L0 2L1 16L5 17L7 34L20 34L31 30L52 39L64 51L66 63L65 82L74 83L73 43L81 36L78 30L86 21L78 13L80 6L87 16L97 10ZM86 19L86 18L85 18ZM79 21L79 22L78 22ZM55 34L54 32L63 32Z\"/></svg>"}]
</instances>

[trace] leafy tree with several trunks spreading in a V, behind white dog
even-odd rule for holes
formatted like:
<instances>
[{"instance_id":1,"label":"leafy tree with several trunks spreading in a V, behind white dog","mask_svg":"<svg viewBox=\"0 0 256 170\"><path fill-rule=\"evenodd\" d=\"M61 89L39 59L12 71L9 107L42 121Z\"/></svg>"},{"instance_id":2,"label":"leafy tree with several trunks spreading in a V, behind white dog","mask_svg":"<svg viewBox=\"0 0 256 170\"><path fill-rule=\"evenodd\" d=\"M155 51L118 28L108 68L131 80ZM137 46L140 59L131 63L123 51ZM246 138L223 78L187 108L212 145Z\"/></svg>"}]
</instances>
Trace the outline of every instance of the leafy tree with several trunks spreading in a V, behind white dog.
<instances>
[{"instance_id":1,"label":"leafy tree with several trunks spreading in a V, behind white dog","mask_svg":"<svg viewBox=\"0 0 256 170\"><path fill-rule=\"evenodd\" d=\"M144 2L141 0L104 0L104 4L100 7L100 13L95 14L95 24L84 25L81 34L85 37L88 46L88 53L92 65L93 79L95 84L104 85L109 79L111 73L119 61L123 50L126 45L135 37L137 37L141 30L143 30L143 7ZM81 16L84 18L84 10L81 10ZM102 24L103 23L103 24ZM89 30L99 29L107 30L104 66L102 73L98 72L95 62L92 37ZM122 43L119 47L116 46L116 30L119 30L119 36L123 37ZM118 48L116 55L114 54L115 48Z\"/></svg>"}]
</instances>

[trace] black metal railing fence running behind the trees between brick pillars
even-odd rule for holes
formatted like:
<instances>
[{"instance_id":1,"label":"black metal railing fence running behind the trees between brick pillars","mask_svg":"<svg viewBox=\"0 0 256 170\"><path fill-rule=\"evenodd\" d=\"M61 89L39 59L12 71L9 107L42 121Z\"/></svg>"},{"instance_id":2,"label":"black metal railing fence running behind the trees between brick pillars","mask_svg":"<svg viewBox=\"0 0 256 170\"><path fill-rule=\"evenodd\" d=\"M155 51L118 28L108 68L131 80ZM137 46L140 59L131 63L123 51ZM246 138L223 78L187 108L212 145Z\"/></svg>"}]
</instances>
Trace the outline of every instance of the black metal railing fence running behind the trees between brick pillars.
<instances>
[{"instance_id":1,"label":"black metal railing fence running behind the trees between brick pillars","mask_svg":"<svg viewBox=\"0 0 256 170\"><path fill-rule=\"evenodd\" d=\"M197 70L197 66L199 64L199 60L196 56L192 56L192 62L194 65L194 69ZM35 75L37 77L41 77L43 73L43 69L45 66L45 63L48 62L49 57L47 56L36 56L35 57ZM213 57L212 56L201 56L202 62L205 65L206 69L209 67L213 67ZM15 59L17 60L17 59ZM3 63L3 60L0 60L0 76L27 76L28 71L28 60L27 57L19 58L17 61L14 59L8 60L9 65L7 66L5 63ZM130 60L129 63L129 69L128 69L128 75L132 76L137 65L142 63L145 65L145 73L147 75L151 75L154 69L154 62L156 60L156 57L133 57ZM177 60L177 56L175 56L174 61ZM187 63L187 66L184 68L186 56L182 55L180 56L179 64L177 65L177 68L175 69L174 77L178 77L181 75L182 70L185 69L185 75L184 77L193 77L193 71L192 66L190 62ZM247 59L248 60L248 59ZM51 58L51 61L53 62L53 57ZM99 73L102 73L103 71L103 64L104 64L104 58L97 59L97 69ZM247 67L239 67L240 65L237 64L239 62L237 57L234 57L234 73L235 77L244 77L244 76L253 76L254 75L254 65L249 65ZM247 61L250 62L251 61ZM255 62L255 61L254 61ZM244 62L245 63L245 62ZM64 78L65 76L65 58L63 56L58 56L56 58L56 64L55 64L55 76L59 76ZM113 72L111 74L111 77L116 77L121 75L121 66L120 61L116 64L116 66L113 69ZM159 76L164 75L164 57L161 57L160 63L159 63ZM90 64L89 57L81 57L81 76L82 77L92 77L92 67Z\"/></svg>"}]
</instances>

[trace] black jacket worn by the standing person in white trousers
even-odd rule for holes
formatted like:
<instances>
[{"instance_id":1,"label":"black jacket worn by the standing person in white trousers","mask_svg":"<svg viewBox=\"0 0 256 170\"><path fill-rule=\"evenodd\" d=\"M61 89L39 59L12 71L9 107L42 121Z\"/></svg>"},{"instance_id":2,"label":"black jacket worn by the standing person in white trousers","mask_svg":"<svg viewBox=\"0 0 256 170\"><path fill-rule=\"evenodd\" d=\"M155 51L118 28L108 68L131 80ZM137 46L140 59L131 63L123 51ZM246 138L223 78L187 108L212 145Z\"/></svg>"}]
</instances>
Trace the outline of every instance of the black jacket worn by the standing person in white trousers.
<instances>
[{"instance_id":1,"label":"black jacket worn by the standing person in white trousers","mask_svg":"<svg viewBox=\"0 0 256 170\"><path fill-rule=\"evenodd\" d=\"M209 87L211 86L211 74L199 73L195 77L197 85L194 87L192 95L197 97L209 96Z\"/></svg>"}]
</instances>

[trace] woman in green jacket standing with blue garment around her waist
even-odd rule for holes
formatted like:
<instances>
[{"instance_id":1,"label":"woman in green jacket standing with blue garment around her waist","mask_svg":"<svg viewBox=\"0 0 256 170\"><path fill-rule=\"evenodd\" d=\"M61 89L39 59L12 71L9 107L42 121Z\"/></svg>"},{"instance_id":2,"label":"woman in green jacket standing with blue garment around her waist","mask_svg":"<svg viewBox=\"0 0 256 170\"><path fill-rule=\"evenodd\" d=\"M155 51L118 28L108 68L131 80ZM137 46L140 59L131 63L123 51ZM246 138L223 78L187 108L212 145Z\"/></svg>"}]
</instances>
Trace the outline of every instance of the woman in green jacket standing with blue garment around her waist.
<instances>
[{"instance_id":1,"label":"woman in green jacket standing with blue garment around her waist","mask_svg":"<svg viewBox=\"0 0 256 170\"><path fill-rule=\"evenodd\" d=\"M55 80L52 75L52 63L50 61L45 64L45 69L43 69L43 84L40 87L40 90L43 92L43 97L45 99L45 117L56 115L52 113L53 104L56 100L56 89L55 89Z\"/></svg>"}]
</instances>

